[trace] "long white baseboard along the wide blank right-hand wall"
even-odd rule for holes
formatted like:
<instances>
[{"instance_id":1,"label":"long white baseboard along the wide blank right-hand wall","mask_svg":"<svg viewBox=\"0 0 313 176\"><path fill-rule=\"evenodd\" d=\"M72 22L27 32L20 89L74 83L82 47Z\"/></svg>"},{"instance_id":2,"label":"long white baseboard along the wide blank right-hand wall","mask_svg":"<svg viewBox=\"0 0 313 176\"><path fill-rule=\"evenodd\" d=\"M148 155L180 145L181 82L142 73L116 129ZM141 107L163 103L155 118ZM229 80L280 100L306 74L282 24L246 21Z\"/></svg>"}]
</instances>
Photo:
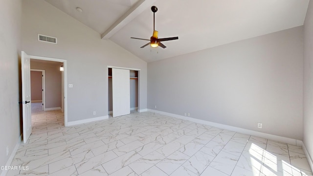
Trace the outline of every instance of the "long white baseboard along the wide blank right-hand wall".
<instances>
[{"instance_id":1,"label":"long white baseboard along the wide blank right-hand wall","mask_svg":"<svg viewBox=\"0 0 313 176\"><path fill-rule=\"evenodd\" d=\"M233 126L229 126L229 125L209 122L209 121L205 121L205 120L201 120L201 119L186 117L186 116L173 114L173 113L168 113L168 112L159 111L159 110L148 109L148 111L156 112L156 113L163 114L163 115L168 115L168 116L171 116L171 117L176 117L176 118L183 119L183 120L192 121L192 122L195 122L195 123L209 125L209 126L213 126L213 127L217 127L217 128L221 128L221 129L225 129L225 130L230 130L230 131L233 131L233 132L245 133L245 134L254 135L254 136L258 136L258 137L263 137L263 138L266 138L266 139L275 140L275 141L278 141L278 142L283 142L283 143L287 143L287 144L291 144L291 145L295 145L295 146L302 146L302 141L301 140L297 140L297 139L292 139L292 138L288 138L288 137L268 134L268 133L265 133L265 132L256 132L256 131L253 131L253 130L247 130L247 129L233 127Z\"/></svg>"}]
</instances>

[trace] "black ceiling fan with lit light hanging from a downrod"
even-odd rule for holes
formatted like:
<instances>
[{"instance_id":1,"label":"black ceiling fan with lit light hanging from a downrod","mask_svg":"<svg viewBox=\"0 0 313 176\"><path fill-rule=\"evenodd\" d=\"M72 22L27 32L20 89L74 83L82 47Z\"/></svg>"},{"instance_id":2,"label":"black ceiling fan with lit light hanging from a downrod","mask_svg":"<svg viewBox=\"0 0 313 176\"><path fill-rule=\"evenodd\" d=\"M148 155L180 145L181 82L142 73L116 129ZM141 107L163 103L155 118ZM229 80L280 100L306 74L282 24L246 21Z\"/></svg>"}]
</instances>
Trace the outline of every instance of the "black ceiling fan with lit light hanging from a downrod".
<instances>
[{"instance_id":1,"label":"black ceiling fan with lit light hanging from a downrod","mask_svg":"<svg viewBox=\"0 0 313 176\"><path fill-rule=\"evenodd\" d=\"M131 39L150 41L148 44L145 44L145 45L141 46L140 48L143 48L149 44L151 45L151 47L161 46L162 48L166 48L166 46L164 44L162 44L161 42L170 41L170 40L177 40L178 37L169 37L169 38L161 38L161 39L157 38L158 32L155 30L155 13L157 11L157 7L152 6L151 11L153 12L153 35L150 37L150 40L149 39L140 39L140 38L135 38L135 37L131 37Z\"/></svg>"}]
</instances>

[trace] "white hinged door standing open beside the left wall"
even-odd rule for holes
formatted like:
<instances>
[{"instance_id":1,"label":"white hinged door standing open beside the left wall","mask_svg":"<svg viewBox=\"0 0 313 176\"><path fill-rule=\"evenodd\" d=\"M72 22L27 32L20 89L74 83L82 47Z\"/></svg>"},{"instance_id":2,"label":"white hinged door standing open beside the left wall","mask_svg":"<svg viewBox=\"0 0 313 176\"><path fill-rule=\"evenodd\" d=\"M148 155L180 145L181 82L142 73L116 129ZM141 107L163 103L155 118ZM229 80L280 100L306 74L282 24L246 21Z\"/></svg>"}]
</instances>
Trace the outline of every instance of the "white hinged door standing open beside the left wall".
<instances>
[{"instance_id":1,"label":"white hinged door standing open beside the left wall","mask_svg":"<svg viewBox=\"0 0 313 176\"><path fill-rule=\"evenodd\" d=\"M22 51L23 141L31 134L30 57Z\"/></svg>"}]
</instances>

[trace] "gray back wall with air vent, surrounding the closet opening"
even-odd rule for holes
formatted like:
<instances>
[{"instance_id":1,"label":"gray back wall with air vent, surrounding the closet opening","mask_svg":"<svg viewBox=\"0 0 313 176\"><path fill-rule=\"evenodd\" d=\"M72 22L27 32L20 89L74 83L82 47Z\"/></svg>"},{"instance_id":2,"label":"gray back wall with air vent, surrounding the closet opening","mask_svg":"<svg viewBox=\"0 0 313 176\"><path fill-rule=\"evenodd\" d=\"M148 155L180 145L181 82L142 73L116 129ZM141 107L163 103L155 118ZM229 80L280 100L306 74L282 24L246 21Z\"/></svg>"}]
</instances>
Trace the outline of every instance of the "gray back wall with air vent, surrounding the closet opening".
<instances>
[{"instance_id":1,"label":"gray back wall with air vent, surrounding the closet opening","mask_svg":"<svg viewBox=\"0 0 313 176\"><path fill-rule=\"evenodd\" d=\"M139 108L147 108L147 63L102 40L100 34L44 0L24 0L22 49L28 55L67 60L68 121L108 115L108 67L139 68ZM58 44L37 41L37 34L58 38ZM96 111L96 115L93 115Z\"/></svg>"}]
</instances>

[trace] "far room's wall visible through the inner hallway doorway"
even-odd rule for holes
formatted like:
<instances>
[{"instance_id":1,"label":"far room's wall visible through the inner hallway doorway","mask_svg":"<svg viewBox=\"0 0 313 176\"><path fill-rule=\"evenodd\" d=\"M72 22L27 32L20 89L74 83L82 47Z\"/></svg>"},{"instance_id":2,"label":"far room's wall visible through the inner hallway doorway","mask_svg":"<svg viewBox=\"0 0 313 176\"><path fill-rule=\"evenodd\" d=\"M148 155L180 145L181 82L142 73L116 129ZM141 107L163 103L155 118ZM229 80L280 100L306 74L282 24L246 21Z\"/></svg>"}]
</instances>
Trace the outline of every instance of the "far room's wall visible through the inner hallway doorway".
<instances>
[{"instance_id":1,"label":"far room's wall visible through the inner hallway doorway","mask_svg":"<svg viewBox=\"0 0 313 176\"><path fill-rule=\"evenodd\" d=\"M31 100L43 100L43 76L41 71L30 71Z\"/></svg>"}]
</instances>

